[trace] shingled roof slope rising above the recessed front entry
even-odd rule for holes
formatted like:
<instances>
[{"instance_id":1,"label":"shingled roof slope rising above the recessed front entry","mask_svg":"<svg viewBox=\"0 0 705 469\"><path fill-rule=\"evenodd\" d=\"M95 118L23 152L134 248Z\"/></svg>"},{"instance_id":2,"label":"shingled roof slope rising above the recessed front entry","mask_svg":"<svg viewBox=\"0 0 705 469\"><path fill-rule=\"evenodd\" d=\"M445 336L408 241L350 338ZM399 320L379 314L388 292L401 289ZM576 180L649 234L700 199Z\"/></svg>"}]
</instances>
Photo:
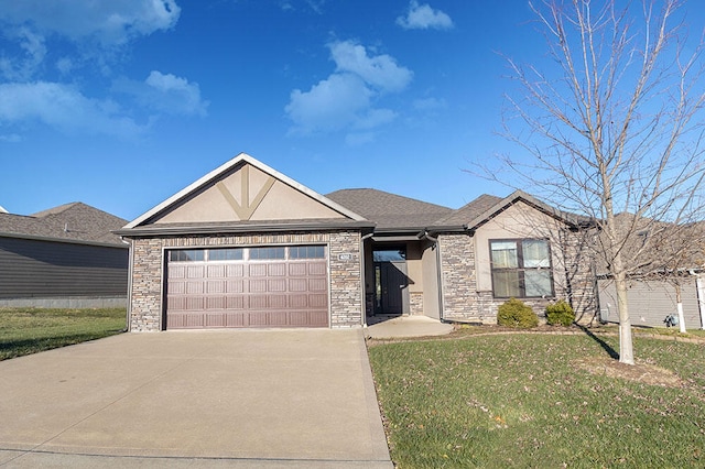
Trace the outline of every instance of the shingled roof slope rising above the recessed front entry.
<instances>
[{"instance_id":1,"label":"shingled roof slope rising above the recessed front entry","mask_svg":"<svg viewBox=\"0 0 705 469\"><path fill-rule=\"evenodd\" d=\"M378 229L424 228L453 212L442 205L369 188L336 190L326 197L376 222Z\"/></svg>"}]
</instances>

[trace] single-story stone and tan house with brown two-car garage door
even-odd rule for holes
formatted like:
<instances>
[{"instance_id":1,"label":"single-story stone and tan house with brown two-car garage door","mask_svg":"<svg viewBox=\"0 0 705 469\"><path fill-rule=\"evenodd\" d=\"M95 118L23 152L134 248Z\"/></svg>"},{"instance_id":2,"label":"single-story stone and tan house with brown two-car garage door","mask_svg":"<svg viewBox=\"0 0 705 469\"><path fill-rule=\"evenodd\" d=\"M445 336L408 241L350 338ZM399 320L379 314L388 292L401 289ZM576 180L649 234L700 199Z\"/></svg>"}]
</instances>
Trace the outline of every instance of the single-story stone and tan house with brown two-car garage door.
<instances>
[{"instance_id":1,"label":"single-story stone and tan house with brown two-car garage door","mask_svg":"<svg viewBox=\"0 0 705 469\"><path fill-rule=\"evenodd\" d=\"M240 154L116 231L129 328L360 327L370 315L496 321L520 297L597 313L584 232L522 192L457 210L375 189L327 196Z\"/></svg>"}]
</instances>

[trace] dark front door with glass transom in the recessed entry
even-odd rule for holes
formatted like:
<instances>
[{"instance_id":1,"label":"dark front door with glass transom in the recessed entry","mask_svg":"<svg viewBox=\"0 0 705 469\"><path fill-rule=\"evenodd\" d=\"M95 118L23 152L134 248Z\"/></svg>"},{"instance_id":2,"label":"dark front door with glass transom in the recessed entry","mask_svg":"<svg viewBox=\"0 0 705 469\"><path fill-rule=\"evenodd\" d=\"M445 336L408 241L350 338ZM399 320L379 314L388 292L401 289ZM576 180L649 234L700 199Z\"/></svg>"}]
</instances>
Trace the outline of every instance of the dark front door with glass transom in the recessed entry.
<instances>
[{"instance_id":1,"label":"dark front door with glass transom in the recessed entry","mask_svg":"<svg viewBox=\"0 0 705 469\"><path fill-rule=\"evenodd\" d=\"M405 249L375 251L375 314L408 313Z\"/></svg>"}]
</instances>

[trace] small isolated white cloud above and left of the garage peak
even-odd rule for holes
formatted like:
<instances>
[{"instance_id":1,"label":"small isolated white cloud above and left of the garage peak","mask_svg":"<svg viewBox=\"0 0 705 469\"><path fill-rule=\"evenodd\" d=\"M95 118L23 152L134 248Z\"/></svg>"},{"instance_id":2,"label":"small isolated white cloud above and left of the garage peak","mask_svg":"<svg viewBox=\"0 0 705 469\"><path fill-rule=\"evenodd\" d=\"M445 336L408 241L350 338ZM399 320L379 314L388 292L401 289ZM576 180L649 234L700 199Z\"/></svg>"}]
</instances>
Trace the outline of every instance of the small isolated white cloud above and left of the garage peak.
<instances>
[{"instance_id":1,"label":"small isolated white cloud above and left of the garage peak","mask_svg":"<svg viewBox=\"0 0 705 469\"><path fill-rule=\"evenodd\" d=\"M120 78L112 90L131 96L152 111L202 117L208 113L209 102L200 98L198 84L172 74L152 70L144 81Z\"/></svg>"}]
</instances>

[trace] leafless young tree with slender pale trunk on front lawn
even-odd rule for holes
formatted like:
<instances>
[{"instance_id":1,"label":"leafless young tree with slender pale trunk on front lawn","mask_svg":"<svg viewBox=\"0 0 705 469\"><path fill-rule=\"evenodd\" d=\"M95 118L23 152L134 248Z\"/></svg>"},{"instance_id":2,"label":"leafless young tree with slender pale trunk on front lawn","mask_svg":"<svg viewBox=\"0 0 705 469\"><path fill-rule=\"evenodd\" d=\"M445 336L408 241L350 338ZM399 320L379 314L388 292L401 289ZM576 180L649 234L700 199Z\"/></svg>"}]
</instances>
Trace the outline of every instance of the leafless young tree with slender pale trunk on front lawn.
<instances>
[{"instance_id":1,"label":"leafless young tree with slender pale trunk on front lawn","mask_svg":"<svg viewBox=\"0 0 705 469\"><path fill-rule=\"evenodd\" d=\"M508 59L521 91L507 96L505 134L530 157L499 161L512 185L595 220L595 255L617 288L619 361L633 364L627 280L654 248L647 239L633 249L633 239L699 209L703 43L687 36L679 0L530 6L550 61ZM618 223L619 214L631 221Z\"/></svg>"}]
</instances>

